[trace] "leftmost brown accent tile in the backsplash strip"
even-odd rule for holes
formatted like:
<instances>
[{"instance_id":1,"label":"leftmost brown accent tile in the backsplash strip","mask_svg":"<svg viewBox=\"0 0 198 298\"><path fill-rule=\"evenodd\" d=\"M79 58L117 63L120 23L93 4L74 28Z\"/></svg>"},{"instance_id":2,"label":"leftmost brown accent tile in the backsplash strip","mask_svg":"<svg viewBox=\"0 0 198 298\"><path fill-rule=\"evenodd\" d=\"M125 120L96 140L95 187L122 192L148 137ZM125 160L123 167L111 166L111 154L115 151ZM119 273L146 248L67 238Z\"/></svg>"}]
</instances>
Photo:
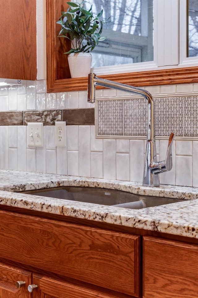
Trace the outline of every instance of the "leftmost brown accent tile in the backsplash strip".
<instances>
[{"instance_id":1,"label":"leftmost brown accent tile in the backsplash strip","mask_svg":"<svg viewBox=\"0 0 198 298\"><path fill-rule=\"evenodd\" d=\"M23 125L23 111L0 112L0 125Z\"/></svg>"}]
</instances>

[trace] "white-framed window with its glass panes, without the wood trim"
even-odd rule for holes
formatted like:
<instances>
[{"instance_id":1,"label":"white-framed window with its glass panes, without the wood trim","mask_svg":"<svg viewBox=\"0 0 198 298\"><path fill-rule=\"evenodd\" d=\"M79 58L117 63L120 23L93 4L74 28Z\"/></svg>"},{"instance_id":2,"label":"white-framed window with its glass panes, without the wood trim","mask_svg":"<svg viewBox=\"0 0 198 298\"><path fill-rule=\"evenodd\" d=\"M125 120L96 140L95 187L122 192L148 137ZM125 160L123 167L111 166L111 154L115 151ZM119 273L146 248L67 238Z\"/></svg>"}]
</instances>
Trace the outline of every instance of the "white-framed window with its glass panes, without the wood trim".
<instances>
[{"instance_id":1,"label":"white-framed window with its glass panes, without the wood trim","mask_svg":"<svg viewBox=\"0 0 198 298\"><path fill-rule=\"evenodd\" d=\"M101 9L104 10L104 19L111 15L111 22L105 24L103 29L103 35L107 36L106 40L99 43L92 52L92 67L97 74L142 70L142 68L159 69L170 65L177 67L183 62L189 62L187 57L198 56L197 0L91 0L90 2L96 13ZM182 7L180 11L179 7ZM188 32L185 28L180 31L179 36L179 22L186 24L187 12ZM185 38L181 36L183 34L186 34ZM182 44L184 39L185 44ZM188 49L184 50L188 41ZM183 51L180 51L182 56L179 57L181 47Z\"/></svg>"}]
</instances>

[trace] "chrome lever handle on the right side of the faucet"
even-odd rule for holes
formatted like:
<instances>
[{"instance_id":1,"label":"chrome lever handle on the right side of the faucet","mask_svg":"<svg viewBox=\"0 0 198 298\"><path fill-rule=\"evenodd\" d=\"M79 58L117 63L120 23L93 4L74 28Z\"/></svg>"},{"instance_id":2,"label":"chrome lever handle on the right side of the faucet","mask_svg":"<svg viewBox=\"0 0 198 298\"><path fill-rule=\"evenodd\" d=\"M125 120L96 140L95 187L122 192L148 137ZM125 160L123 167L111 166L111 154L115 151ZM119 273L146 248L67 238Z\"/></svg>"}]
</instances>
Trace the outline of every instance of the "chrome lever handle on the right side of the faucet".
<instances>
[{"instance_id":1,"label":"chrome lever handle on the right side of the faucet","mask_svg":"<svg viewBox=\"0 0 198 298\"><path fill-rule=\"evenodd\" d=\"M168 148L166 152L166 158L163 161L159 161L157 165L158 173L168 172L172 169L172 144L174 139L174 133L170 133L168 140ZM155 173L156 174L156 173Z\"/></svg>"}]
</instances>

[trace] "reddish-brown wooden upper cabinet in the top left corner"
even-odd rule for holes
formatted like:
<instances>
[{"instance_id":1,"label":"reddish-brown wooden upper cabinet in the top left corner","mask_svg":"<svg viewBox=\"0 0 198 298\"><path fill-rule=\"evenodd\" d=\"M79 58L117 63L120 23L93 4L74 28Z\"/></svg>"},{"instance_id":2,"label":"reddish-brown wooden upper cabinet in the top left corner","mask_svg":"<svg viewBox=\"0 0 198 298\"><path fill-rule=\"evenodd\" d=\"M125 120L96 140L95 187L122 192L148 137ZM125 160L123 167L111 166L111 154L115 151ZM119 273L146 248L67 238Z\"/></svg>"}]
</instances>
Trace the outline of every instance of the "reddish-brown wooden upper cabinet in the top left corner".
<instances>
[{"instance_id":1,"label":"reddish-brown wooden upper cabinet in the top left corner","mask_svg":"<svg viewBox=\"0 0 198 298\"><path fill-rule=\"evenodd\" d=\"M0 77L37 77L36 0L6 0L0 10Z\"/></svg>"}]
</instances>

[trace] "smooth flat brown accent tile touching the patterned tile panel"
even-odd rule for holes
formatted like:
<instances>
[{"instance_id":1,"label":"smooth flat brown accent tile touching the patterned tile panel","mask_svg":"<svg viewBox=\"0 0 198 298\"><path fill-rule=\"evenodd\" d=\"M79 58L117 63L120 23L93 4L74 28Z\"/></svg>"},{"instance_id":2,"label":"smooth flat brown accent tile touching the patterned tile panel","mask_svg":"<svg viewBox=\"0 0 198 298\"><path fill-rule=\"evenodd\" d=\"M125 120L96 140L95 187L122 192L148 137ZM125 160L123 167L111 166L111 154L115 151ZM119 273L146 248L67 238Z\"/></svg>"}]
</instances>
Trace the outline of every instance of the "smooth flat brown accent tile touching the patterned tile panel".
<instances>
[{"instance_id":1,"label":"smooth flat brown accent tile touching the patterned tile panel","mask_svg":"<svg viewBox=\"0 0 198 298\"><path fill-rule=\"evenodd\" d=\"M94 108L67 109L62 112L62 121L66 121L67 125L94 125Z\"/></svg>"}]
</instances>

